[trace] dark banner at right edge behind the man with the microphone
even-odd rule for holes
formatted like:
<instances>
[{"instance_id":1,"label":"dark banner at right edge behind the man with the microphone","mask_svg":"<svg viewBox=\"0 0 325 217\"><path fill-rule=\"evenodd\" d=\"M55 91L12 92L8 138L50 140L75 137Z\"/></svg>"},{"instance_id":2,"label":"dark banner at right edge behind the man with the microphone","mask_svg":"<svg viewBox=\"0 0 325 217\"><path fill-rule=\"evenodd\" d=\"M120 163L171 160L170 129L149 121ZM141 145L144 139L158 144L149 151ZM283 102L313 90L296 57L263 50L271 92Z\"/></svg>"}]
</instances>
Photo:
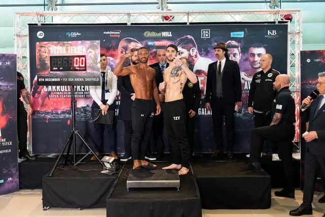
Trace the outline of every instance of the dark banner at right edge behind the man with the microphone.
<instances>
[{"instance_id":1,"label":"dark banner at right edge behind the man with the microphone","mask_svg":"<svg viewBox=\"0 0 325 217\"><path fill-rule=\"evenodd\" d=\"M318 73L325 72L325 50L304 50L300 52L300 63L301 63L301 91L300 99L305 99L313 90L316 88L316 82L318 78ZM306 119L301 116L301 134L306 131ZM306 142L304 138L300 138L301 141L301 188L304 189L304 178L305 178L305 151ZM319 178L316 180L315 190L320 192L324 191L323 180Z\"/></svg>"}]
</instances>

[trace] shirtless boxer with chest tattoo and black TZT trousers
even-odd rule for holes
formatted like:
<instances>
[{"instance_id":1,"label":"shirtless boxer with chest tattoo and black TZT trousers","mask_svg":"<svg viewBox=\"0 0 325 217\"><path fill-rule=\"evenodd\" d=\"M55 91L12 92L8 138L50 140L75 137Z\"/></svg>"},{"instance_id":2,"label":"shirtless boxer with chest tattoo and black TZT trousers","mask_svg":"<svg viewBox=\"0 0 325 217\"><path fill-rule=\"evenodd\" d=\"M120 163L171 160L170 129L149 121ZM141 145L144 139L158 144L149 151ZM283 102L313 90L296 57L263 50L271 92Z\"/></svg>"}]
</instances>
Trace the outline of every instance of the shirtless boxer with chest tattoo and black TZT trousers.
<instances>
[{"instance_id":1,"label":"shirtless boxer with chest tattoo and black TZT trousers","mask_svg":"<svg viewBox=\"0 0 325 217\"><path fill-rule=\"evenodd\" d=\"M168 139L172 146L172 163L163 169L178 169L179 175L189 171L190 148L186 136L186 108L182 90L187 78L198 82L197 76L179 58L177 47L173 44L166 49L169 67L164 71L164 82L159 84L161 94L165 95L164 120Z\"/></svg>"}]
</instances>

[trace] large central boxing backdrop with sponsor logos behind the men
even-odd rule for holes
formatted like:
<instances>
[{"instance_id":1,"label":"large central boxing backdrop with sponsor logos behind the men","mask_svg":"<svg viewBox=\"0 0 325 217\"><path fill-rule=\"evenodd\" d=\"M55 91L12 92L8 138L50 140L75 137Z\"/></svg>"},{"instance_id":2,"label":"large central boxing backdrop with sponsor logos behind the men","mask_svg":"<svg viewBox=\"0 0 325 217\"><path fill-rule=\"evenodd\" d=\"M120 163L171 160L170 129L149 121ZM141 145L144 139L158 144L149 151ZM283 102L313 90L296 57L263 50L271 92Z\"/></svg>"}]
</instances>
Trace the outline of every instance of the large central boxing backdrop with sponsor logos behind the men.
<instances>
[{"instance_id":1,"label":"large central boxing backdrop with sponsor logos behind the men","mask_svg":"<svg viewBox=\"0 0 325 217\"><path fill-rule=\"evenodd\" d=\"M95 50L91 46L85 47L86 53L82 55L86 56L87 64L99 66L99 63L96 62L99 59L99 53L105 53L108 57L108 65L112 69L125 54L125 51L139 46L146 46L149 49L148 64L153 64L156 61L155 51L157 49L165 49L168 44L173 44L178 40L180 42L178 47L183 48L180 49L182 51L180 55L188 59L190 69L199 77L202 90L202 102L196 116L195 131L196 150L202 152L210 152L215 149L211 112L204 108L207 69L208 65L216 60L213 49L215 43L234 41L233 43L238 43L241 49L240 51L237 50L237 56L232 56L240 66L244 101L243 108L235 113L236 145L234 151L236 152L249 151L249 135L253 123L252 116L247 113L247 96L253 76L252 72L254 68L259 67L256 60L258 59L257 53L271 53L273 55L273 68L281 73L287 73L286 24L30 25L30 86L34 85L34 88L31 89L31 95L38 101L37 112L32 116L32 151L34 153L59 152L71 130L71 115L69 113L71 87L41 86L34 81L34 78L40 72L52 73L53 68L50 69L51 56L64 55L65 58L68 58L67 56L76 55L79 52L78 49L80 48L77 47L65 47L63 49L62 44L83 40L100 41L100 50ZM190 40L192 40L191 43L194 44L195 49L190 49ZM53 44L54 42L56 44ZM254 50L256 58L253 58L255 56L249 58L248 50L251 45L256 43L263 48ZM190 52L187 52L186 49ZM72 65L71 60L66 60L66 65L69 64ZM88 71L88 65L86 71ZM89 107L92 99L89 96L89 88L88 86L76 86L75 88L78 92L76 96L77 127L86 140L92 143L93 125ZM119 105L118 100L117 105ZM117 113L118 109L116 110ZM119 152L124 150L122 131L122 125L118 124L117 147ZM83 151L80 147L77 149L79 152Z\"/></svg>"}]
</instances>

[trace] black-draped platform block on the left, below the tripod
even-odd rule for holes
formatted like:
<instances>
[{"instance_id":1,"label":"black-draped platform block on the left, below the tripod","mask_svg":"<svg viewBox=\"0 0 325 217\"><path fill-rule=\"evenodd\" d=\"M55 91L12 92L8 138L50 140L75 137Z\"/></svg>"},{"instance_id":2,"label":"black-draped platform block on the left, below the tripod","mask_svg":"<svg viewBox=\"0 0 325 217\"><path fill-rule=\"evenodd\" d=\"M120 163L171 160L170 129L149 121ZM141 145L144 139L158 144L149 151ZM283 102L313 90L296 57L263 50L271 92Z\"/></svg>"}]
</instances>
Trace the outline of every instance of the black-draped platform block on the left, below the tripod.
<instances>
[{"instance_id":1,"label":"black-draped platform block on the left, below the tripod","mask_svg":"<svg viewBox=\"0 0 325 217\"><path fill-rule=\"evenodd\" d=\"M106 207L118 175L102 174L102 170L98 162L57 167L52 177L43 177L43 208Z\"/></svg>"}]
</instances>

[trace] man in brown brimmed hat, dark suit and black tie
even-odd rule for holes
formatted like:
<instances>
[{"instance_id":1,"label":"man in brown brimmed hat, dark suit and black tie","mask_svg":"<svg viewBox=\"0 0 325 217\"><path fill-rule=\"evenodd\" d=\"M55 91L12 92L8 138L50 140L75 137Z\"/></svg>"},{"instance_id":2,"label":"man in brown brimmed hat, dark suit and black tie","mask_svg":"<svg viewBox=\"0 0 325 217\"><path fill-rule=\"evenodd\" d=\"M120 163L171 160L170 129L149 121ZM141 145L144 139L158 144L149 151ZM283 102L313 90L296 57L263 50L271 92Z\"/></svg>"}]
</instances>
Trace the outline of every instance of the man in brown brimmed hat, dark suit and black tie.
<instances>
[{"instance_id":1,"label":"man in brown brimmed hat, dark suit and black tie","mask_svg":"<svg viewBox=\"0 0 325 217\"><path fill-rule=\"evenodd\" d=\"M235 105L242 106L242 87L239 66L236 61L228 57L228 49L224 43L217 43L214 47L217 61L209 65L205 107L212 109L214 141L216 151L213 158L220 157L223 153L222 125L225 116L227 157L233 158L235 138L234 110Z\"/></svg>"}]
</instances>

